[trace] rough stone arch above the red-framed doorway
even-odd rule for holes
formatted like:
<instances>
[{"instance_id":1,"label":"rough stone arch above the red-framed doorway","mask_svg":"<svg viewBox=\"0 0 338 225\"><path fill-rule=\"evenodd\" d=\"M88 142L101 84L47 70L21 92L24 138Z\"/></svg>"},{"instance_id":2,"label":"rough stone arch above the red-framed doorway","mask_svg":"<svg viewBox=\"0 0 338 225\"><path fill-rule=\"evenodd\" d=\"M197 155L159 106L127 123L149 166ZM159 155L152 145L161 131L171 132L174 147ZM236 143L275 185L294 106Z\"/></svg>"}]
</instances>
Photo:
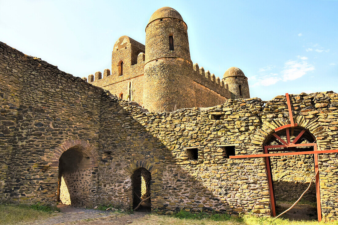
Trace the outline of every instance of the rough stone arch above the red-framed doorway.
<instances>
[{"instance_id":1,"label":"rough stone arch above the red-framed doorway","mask_svg":"<svg viewBox=\"0 0 338 225\"><path fill-rule=\"evenodd\" d=\"M327 133L323 127L319 124L318 119L307 119L305 116L296 116L294 117L294 122L297 123L297 127L304 128L308 130L316 139L318 150L320 147L325 147L327 145ZM257 129L252 138L252 143L263 146L264 141L267 137L273 134L274 129L279 128L280 126L289 124L288 121L283 120L282 118L273 119L272 121L264 121L262 127Z\"/></svg>"}]
</instances>

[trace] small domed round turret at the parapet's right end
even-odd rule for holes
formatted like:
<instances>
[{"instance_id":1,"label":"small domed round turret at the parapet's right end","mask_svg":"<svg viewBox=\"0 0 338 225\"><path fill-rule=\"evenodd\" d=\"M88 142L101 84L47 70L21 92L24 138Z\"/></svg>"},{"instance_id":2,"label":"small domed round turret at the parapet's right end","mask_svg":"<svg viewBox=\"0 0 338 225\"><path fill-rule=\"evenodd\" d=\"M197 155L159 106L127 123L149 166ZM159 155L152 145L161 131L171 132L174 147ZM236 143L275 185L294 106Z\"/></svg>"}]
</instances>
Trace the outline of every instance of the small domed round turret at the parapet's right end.
<instances>
[{"instance_id":1,"label":"small domed round turret at the parapet's right end","mask_svg":"<svg viewBox=\"0 0 338 225\"><path fill-rule=\"evenodd\" d=\"M248 78L245 77L243 71L237 67L228 68L224 75L224 83L227 83L229 91L232 93L232 99L249 99Z\"/></svg>"}]
</instances>

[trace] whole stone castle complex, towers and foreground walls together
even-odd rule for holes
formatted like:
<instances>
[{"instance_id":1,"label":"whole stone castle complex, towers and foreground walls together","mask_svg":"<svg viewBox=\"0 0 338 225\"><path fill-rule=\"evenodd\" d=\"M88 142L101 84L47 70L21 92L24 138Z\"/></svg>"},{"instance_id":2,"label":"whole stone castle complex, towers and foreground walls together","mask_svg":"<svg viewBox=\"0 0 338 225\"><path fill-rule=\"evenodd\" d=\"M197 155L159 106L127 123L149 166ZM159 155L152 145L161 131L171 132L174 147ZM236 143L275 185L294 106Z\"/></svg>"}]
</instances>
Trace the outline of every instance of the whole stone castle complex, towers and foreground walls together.
<instances>
[{"instance_id":1,"label":"whole stone castle complex, towers and foreground walls together","mask_svg":"<svg viewBox=\"0 0 338 225\"><path fill-rule=\"evenodd\" d=\"M112 58L86 82L0 42L1 203L270 216L316 177L305 200L338 219L337 93L249 98L191 63L171 8Z\"/></svg>"}]
</instances>

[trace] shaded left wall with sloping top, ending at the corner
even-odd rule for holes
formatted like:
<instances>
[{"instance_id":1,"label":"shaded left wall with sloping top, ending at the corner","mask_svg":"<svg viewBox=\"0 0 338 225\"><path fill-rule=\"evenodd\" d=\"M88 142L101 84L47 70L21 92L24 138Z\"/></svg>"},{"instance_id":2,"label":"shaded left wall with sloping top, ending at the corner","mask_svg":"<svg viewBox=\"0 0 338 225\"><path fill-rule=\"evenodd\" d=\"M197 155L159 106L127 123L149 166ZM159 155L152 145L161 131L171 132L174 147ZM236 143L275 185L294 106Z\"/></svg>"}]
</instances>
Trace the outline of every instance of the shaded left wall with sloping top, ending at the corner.
<instances>
[{"instance_id":1,"label":"shaded left wall with sloping top, ending at the corner","mask_svg":"<svg viewBox=\"0 0 338 225\"><path fill-rule=\"evenodd\" d=\"M55 204L55 151L68 140L98 146L102 89L1 42L0 58L1 202Z\"/></svg>"}]
</instances>

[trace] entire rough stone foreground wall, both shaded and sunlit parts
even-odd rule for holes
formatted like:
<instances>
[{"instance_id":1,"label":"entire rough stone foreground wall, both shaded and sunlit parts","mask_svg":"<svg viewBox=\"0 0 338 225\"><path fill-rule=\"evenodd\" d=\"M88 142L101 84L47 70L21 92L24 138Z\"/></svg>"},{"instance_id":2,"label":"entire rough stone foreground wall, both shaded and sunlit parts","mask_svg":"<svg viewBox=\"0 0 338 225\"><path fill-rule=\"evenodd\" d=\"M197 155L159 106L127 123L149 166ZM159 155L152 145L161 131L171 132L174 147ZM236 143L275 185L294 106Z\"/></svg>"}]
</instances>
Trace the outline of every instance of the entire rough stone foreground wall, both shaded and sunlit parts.
<instances>
[{"instance_id":1,"label":"entire rough stone foreground wall, both shaded and sunlit parts","mask_svg":"<svg viewBox=\"0 0 338 225\"><path fill-rule=\"evenodd\" d=\"M1 202L56 204L58 158L81 145L89 157L84 204L132 207L131 175L151 173L151 208L189 212L270 214L263 158L227 159L263 152L274 128L288 122L285 96L226 100L211 108L149 113L106 94L55 66L0 43ZM338 148L338 95L291 95L294 120L317 140ZM198 159L191 148L198 148ZM337 219L337 156L319 155L324 218ZM87 174L87 175L86 175ZM76 184L74 185L82 185ZM71 193L71 190L69 190Z\"/></svg>"}]
</instances>

